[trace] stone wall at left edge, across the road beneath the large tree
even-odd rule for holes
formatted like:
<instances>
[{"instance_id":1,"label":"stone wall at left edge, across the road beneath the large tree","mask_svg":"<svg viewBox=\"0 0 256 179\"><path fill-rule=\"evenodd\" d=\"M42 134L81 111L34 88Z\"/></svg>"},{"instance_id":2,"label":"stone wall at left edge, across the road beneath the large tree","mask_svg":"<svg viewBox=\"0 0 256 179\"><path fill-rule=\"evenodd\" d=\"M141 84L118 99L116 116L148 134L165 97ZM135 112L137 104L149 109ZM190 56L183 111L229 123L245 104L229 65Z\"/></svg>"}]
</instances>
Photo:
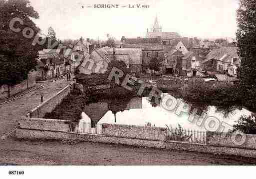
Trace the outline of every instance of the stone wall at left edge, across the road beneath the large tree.
<instances>
[{"instance_id":1,"label":"stone wall at left edge, across the road beneath the large tree","mask_svg":"<svg viewBox=\"0 0 256 179\"><path fill-rule=\"evenodd\" d=\"M31 71L28 74L27 80L22 81L19 84L16 84L14 86L10 86L10 96L13 96L17 93L20 93L28 88L31 88L35 85L35 71ZM8 86L2 85L0 86L0 99L7 98L8 97Z\"/></svg>"}]
</instances>

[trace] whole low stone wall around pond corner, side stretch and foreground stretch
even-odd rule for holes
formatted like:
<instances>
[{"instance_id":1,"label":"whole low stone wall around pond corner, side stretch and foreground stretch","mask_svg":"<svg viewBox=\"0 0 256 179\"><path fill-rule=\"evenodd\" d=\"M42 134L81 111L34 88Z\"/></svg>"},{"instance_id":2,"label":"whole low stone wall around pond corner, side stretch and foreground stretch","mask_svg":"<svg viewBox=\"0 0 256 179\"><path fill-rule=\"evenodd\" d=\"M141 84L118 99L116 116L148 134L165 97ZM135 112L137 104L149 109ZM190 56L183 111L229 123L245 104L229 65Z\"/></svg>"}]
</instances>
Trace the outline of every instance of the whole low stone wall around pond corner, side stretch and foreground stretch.
<instances>
[{"instance_id":1,"label":"whole low stone wall around pond corner, side stretch and foreground stretch","mask_svg":"<svg viewBox=\"0 0 256 179\"><path fill-rule=\"evenodd\" d=\"M246 142L239 146L232 142L231 134L205 132L204 142L195 143L195 141L171 141L175 138L169 136L172 133L167 128L87 122L79 122L77 126L73 126L74 124L70 121L43 119L44 114L51 112L73 90L74 86L73 84L66 86L31 110L26 117L21 117L15 131L16 137L19 139L80 140L256 158L256 135L247 135Z\"/></svg>"}]
</instances>

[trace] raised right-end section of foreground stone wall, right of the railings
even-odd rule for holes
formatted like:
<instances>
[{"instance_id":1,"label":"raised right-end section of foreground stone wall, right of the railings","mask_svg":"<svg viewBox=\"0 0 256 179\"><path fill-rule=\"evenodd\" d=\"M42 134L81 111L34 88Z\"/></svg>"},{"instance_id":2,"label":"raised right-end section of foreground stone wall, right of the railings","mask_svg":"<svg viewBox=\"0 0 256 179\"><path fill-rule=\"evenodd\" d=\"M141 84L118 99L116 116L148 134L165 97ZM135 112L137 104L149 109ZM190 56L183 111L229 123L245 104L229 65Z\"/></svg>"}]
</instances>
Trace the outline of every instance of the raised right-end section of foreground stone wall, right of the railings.
<instances>
[{"instance_id":1,"label":"raised right-end section of foreground stone wall, right of the railings","mask_svg":"<svg viewBox=\"0 0 256 179\"><path fill-rule=\"evenodd\" d=\"M234 135L235 137L235 135ZM211 145L217 146L228 146L234 148L244 148L244 149L256 149L256 135L246 134L245 143L239 145L240 135L237 135L237 139L233 138L231 133L217 133L217 132L207 132L207 140ZM234 143L237 140L238 145Z\"/></svg>"}]
</instances>

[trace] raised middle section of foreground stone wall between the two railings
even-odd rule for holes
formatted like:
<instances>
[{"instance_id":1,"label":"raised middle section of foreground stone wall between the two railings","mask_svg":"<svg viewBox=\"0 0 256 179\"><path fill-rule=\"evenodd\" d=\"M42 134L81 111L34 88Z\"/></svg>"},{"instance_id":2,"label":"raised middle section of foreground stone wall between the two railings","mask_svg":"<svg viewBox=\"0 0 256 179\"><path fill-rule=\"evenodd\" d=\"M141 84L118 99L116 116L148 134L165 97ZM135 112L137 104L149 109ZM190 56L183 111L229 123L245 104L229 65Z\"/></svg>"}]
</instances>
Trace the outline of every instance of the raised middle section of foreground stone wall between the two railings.
<instances>
[{"instance_id":1,"label":"raised middle section of foreground stone wall between the two railings","mask_svg":"<svg viewBox=\"0 0 256 179\"><path fill-rule=\"evenodd\" d=\"M103 135L147 140L165 140L167 128L103 124Z\"/></svg>"}]
</instances>

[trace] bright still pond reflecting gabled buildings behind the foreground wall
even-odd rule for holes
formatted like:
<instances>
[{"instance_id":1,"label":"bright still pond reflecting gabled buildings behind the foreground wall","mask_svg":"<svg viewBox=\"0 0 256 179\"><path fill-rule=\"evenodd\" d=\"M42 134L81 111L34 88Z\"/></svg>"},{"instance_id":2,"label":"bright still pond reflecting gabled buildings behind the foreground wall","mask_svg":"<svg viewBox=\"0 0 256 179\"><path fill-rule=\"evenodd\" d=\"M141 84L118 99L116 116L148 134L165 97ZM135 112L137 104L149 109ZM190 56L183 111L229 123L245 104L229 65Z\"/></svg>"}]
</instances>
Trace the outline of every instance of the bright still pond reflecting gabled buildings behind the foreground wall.
<instances>
[{"instance_id":1,"label":"bright still pond reflecting gabled buildings behind the foreground wall","mask_svg":"<svg viewBox=\"0 0 256 179\"><path fill-rule=\"evenodd\" d=\"M208 109L207 116L214 116L220 122L226 122L233 126L242 115L251 115L251 112L242 109L235 110L228 116L216 112L216 108L211 106ZM89 103L85 106L84 112L81 114L81 122L109 123L109 124L125 124L145 126L151 124L155 127L172 128L178 127L180 124L184 129L206 131L204 125L198 126L191 123L188 118L188 113L176 115L175 110L168 111L162 105L152 105L148 97L135 97L129 100L99 100L94 103ZM204 118L199 118L202 121ZM223 132L228 132L232 127L225 128Z\"/></svg>"}]
</instances>

